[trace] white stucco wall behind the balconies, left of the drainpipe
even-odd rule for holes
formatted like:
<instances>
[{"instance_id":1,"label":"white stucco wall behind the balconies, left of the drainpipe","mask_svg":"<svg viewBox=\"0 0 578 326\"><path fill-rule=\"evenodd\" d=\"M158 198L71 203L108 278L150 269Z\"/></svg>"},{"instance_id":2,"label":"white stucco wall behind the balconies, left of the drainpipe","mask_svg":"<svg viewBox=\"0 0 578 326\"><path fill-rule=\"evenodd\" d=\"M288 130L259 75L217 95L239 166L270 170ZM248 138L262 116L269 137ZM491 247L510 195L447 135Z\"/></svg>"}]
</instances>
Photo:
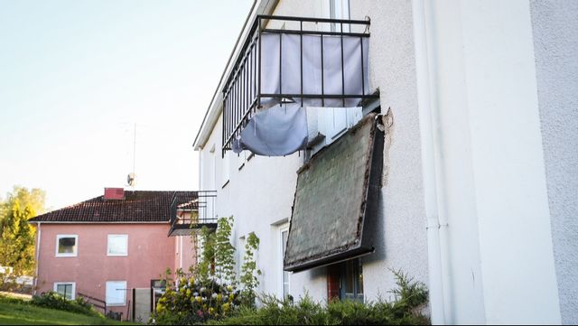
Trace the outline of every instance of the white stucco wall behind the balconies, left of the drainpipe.
<instances>
[{"instance_id":1,"label":"white stucco wall behind the balconies, left of the drainpipe","mask_svg":"<svg viewBox=\"0 0 578 326\"><path fill-rule=\"evenodd\" d=\"M421 180L419 121L415 96L415 59L412 40L411 3L398 1L355 1L352 19L371 18L369 64L370 85L380 88L382 107L391 107L395 119L391 146L386 153L381 210L377 217L376 253L363 258L366 298L387 298L395 287L388 268L401 269L427 283L427 247ZM276 15L327 17L329 1L281 1ZM404 42L399 42L404 40ZM216 157L217 213L235 215L234 239L255 231L261 238L259 268L264 272L260 290L280 295L281 266L276 224L291 216L296 170L303 157L267 158L256 156L238 171L237 157L231 161L230 182L221 189L220 120L200 151L201 189L212 185L213 157ZM399 126L399 127L398 127ZM215 145L215 154L210 148ZM216 156L215 156L216 155ZM237 247L237 243L235 244ZM319 267L291 275L295 298L309 293L324 301L327 295L326 268Z\"/></svg>"}]
</instances>

